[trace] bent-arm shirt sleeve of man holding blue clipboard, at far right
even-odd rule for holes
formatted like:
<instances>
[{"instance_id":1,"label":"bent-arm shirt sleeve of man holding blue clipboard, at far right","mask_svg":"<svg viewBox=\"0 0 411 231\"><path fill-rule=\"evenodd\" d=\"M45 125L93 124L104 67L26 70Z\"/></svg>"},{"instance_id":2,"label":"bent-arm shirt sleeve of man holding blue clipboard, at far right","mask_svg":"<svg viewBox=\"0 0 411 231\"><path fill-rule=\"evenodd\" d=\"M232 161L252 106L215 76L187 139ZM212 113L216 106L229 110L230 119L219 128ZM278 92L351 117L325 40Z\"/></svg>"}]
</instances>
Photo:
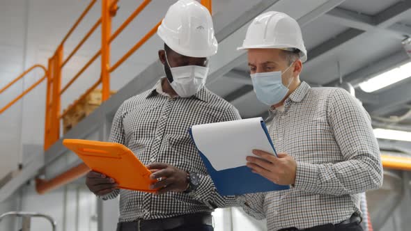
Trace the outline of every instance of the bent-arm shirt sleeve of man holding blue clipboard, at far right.
<instances>
[{"instance_id":1,"label":"bent-arm shirt sleeve of man holding blue clipboard, at far right","mask_svg":"<svg viewBox=\"0 0 411 231\"><path fill-rule=\"evenodd\" d=\"M295 188L336 196L378 189L382 185L382 164L368 113L345 90L337 89L329 98L327 120L344 161L297 161Z\"/></svg>"}]
</instances>

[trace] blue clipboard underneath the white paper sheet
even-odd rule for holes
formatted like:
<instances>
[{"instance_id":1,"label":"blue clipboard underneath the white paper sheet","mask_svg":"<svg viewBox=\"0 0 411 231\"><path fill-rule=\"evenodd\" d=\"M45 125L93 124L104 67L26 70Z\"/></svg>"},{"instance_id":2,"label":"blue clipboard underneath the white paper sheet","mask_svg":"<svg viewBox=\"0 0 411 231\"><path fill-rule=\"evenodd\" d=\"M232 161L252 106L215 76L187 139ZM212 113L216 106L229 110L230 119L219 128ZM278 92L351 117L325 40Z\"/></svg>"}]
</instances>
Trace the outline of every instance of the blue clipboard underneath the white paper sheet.
<instances>
[{"instance_id":1,"label":"blue clipboard underneath the white paper sheet","mask_svg":"<svg viewBox=\"0 0 411 231\"><path fill-rule=\"evenodd\" d=\"M268 130L265 126L264 121L261 121L261 127L272 146L272 150L274 150L274 154L277 156L277 152L274 148L274 144L271 141L270 135L268 134ZM192 129L189 129L189 134L195 144L196 141L194 140ZM199 150L198 147L197 150ZM203 160L204 165L207 168L212 182L214 182L215 184L218 193L222 196L235 196L247 193L262 193L267 191L280 191L290 189L290 186L288 185L283 186L274 184L273 182L270 182L270 180L267 180L265 177L262 177L261 175L258 175L256 173L252 173L251 169L249 169L247 166L240 166L237 168L228 168L217 171L212 167L206 155L204 155L200 150L199 154L201 159ZM250 155L252 154L250 153Z\"/></svg>"}]
</instances>

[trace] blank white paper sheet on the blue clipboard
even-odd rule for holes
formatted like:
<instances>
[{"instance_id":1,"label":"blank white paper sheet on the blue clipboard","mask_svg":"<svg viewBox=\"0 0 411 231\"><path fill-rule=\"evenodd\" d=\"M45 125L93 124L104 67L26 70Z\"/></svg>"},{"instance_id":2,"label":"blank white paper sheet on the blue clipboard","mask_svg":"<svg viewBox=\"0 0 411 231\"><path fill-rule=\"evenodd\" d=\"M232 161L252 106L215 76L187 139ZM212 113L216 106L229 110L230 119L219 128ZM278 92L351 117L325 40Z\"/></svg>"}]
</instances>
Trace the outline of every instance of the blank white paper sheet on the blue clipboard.
<instances>
[{"instance_id":1,"label":"blank white paper sheet on the blue clipboard","mask_svg":"<svg viewBox=\"0 0 411 231\"><path fill-rule=\"evenodd\" d=\"M194 125L192 136L215 170L236 168L247 164L246 157L254 156L254 149L274 154L261 121L259 117Z\"/></svg>"}]
</instances>

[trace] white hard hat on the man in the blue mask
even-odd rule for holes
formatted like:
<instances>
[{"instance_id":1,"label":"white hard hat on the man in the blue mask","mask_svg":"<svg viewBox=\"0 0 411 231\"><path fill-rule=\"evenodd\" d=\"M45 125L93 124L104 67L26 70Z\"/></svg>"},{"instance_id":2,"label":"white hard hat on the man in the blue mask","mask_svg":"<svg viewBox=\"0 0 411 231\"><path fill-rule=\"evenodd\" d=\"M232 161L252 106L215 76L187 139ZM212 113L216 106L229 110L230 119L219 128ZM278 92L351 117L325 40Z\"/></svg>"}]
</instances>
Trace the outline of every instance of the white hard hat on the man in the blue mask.
<instances>
[{"instance_id":1,"label":"white hard hat on the man in the blue mask","mask_svg":"<svg viewBox=\"0 0 411 231\"><path fill-rule=\"evenodd\" d=\"M263 13L249 25L242 47L238 49L258 48L298 49L301 61L307 61L300 26L285 13Z\"/></svg>"}]
</instances>

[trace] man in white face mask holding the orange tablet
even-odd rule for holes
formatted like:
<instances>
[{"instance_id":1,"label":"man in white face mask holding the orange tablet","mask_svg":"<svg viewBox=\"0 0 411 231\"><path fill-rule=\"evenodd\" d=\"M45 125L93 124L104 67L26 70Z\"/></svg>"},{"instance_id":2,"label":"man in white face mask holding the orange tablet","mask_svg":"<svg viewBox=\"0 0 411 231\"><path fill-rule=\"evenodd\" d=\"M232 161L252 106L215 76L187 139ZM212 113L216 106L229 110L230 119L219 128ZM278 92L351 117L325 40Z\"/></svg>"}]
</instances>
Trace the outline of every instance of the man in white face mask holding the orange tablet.
<instances>
[{"instance_id":1,"label":"man in white face mask holding the orange tablet","mask_svg":"<svg viewBox=\"0 0 411 231\"><path fill-rule=\"evenodd\" d=\"M150 90L127 99L118 109L109 141L126 145L160 179L144 193L116 189L116 182L88 173L86 184L105 199L120 194L118 231L213 230L211 212L236 205L219 196L194 143L192 125L238 120L238 111L205 88L208 57L217 40L208 10L194 0L171 6L157 34L165 77Z\"/></svg>"}]
</instances>

